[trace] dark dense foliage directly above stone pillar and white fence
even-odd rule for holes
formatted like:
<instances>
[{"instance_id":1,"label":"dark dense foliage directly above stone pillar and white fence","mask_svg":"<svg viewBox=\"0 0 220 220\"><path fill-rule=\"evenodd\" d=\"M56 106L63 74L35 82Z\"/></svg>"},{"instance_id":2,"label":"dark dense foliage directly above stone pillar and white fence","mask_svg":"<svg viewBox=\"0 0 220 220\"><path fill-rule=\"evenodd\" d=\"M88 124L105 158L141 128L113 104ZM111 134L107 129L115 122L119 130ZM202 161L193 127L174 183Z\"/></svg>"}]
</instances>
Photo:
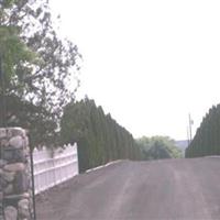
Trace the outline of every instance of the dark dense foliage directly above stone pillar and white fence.
<instances>
[{"instance_id":1,"label":"dark dense foliage directly above stone pillar and white fence","mask_svg":"<svg viewBox=\"0 0 220 220\"><path fill-rule=\"evenodd\" d=\"M30 139L34 146L37 144L55 146L59 142L56 132L57 124L50 112L29 101L21 101L15 95L4 97L4 99L8 108L6 116L8 127L29 128ZM0 103L2 103L2 98L0 98Z\"/></svg>"}]
</instances>

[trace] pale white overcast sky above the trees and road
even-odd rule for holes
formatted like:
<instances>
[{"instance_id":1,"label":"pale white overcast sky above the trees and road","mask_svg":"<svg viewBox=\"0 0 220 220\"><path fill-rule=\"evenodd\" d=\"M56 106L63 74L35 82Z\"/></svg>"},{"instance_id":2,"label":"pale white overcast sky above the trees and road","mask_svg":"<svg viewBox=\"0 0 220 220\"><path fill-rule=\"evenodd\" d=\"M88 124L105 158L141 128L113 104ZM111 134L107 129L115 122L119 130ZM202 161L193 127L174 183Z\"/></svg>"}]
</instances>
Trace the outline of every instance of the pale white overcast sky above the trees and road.
<instances>
[{"instance_id":1,"label":"pale white overcast sky above the trees and road","mask_svg":"<svg viewBox=\"0 0 220 220\"><path fill-rule=\"evenodd\" d=\"M135 138L187 138L220 101L220 1L51 0L88 95Z\"/></svg>"}]
</instances>

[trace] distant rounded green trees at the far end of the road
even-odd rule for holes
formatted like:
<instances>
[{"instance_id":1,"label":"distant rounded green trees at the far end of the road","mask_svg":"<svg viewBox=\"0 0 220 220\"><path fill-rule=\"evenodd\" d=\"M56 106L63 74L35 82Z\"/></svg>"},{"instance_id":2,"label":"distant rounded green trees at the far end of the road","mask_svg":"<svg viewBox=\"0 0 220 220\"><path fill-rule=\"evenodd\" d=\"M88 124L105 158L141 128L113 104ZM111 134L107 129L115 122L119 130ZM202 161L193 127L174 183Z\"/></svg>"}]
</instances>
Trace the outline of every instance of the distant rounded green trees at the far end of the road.
<instances>
[{"instance_id":1,"label":"distant rounded green trees at the far end of the road","mask_svg":"<svg viewBox=\"0 0 220 220\"><path fill-rule=\"evenodd\" d=\"M168 136L143 136L136 140L144 160L178 158L182 151L175 146L175 142Z\"/></svg>"}]
</instances>

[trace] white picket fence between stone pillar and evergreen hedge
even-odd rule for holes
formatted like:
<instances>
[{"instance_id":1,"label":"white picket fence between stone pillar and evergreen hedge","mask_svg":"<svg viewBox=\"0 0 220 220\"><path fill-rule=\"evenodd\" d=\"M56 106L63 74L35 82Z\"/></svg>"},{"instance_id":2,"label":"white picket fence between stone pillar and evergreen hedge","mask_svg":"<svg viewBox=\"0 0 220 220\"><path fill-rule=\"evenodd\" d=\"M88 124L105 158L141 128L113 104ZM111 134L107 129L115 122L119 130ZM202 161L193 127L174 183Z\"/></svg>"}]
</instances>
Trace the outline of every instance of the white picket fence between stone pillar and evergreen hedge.
<instances>
[{"instance_id":1,"label":"white picket fence between stone pillar and evergreen hedge","mask_svg":"<svg viewBox=\"0 0 220 220\"><path fill-rule=\"evenodd\" d=\"M34 150L33 162L35 194L38 194L78 174L77 144L55 152Z\"/></svg>"}]
</instances>

